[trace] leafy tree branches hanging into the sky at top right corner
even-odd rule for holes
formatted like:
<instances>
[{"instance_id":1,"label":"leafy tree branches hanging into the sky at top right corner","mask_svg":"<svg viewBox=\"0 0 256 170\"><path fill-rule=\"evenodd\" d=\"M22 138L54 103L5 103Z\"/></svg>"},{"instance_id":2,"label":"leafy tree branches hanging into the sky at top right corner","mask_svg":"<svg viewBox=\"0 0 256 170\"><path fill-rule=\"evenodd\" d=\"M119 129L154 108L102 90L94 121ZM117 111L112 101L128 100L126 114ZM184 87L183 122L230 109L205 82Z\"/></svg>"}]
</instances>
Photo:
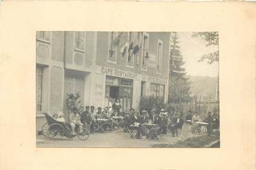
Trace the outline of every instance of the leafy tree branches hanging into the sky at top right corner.
<instances>
[{"instance_id":1,"label":"leafy tree branches hanging into the sky at top right corner","mask_svg":"<svg viewBox=\"0 0 256 170\"><path fill-rule=\"evenodd\" d=\"M213 64L214 62L219 61L219 33L218 32L198 32L198 33L193 33L192 37L200 37L202 40L205 40L208 42L206 44L206 47L208 46L216 46L217 51L204 54L202 57L198 60L198 62L206 62L208 64Z\"/></svg>"}]
</instances>

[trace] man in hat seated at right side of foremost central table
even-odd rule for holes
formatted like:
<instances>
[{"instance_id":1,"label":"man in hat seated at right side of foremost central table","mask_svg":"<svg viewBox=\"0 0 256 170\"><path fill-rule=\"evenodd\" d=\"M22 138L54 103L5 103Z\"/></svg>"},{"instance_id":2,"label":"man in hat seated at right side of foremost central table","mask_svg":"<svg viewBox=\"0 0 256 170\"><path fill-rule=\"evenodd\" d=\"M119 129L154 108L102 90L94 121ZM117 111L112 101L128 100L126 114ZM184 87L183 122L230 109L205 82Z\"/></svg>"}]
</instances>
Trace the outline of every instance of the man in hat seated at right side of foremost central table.
<instances>
[{"instance_id":1,"label":"man in hat seated at right side of foremost central table","mask_svg":"<svg viewBox=\"0 0 256 170\"><path fill-rule=\"evenodd\" d=\"M146 139L155 139L157 135L162 133L162 130L166 128L166 115L160 114L159 115L159 121L157 122L159 124L159 127L153 127L150 129L150 132L148 132L148 135L146 136Z\"/></svg>"}]
</instances>

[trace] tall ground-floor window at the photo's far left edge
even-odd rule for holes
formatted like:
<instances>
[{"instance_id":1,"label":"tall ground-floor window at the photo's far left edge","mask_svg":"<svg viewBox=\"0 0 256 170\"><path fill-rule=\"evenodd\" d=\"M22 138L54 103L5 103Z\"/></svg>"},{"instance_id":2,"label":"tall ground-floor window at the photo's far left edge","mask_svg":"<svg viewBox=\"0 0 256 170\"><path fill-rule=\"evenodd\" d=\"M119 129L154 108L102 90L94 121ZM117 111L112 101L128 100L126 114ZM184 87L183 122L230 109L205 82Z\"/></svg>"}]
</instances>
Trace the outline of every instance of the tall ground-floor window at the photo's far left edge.
<instances>
[{"instance_id":1,"label":"tall ground-floor window at the photo's far left edge","mask_svg":"<svg viewBox=\"0 0 256 170\"><path fill-rule=\"evenodd\" d=\"M36 111L42 112L43 101L43 67L36 68Z\"/></svg>"}]
</instances>

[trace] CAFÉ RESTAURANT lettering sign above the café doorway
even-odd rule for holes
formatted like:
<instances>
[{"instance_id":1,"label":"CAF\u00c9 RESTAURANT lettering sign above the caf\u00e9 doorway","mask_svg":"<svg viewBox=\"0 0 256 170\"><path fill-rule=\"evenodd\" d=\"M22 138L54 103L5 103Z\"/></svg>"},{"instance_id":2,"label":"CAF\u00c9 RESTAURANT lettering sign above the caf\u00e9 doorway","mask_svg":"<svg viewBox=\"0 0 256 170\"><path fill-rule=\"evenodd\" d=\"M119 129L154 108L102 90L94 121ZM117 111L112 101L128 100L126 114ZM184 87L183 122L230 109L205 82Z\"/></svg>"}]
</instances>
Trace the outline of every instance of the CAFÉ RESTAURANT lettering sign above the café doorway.
<instances>
[{"instance_id":1,"label":"CAF\u00c9 RESTAURANT lettering sign above the caf\u00e9 doorway","mask_svg":"<svg viewBox=\"0 0 256 170\"><path fill-rule=\"evenodd\" d=\"M101 72L109 76L137 79L137 74L135 72L130 72L130 71L122 71L119 69L113 69L109 67L101 67Z\"/></svg>"}]
</instances>

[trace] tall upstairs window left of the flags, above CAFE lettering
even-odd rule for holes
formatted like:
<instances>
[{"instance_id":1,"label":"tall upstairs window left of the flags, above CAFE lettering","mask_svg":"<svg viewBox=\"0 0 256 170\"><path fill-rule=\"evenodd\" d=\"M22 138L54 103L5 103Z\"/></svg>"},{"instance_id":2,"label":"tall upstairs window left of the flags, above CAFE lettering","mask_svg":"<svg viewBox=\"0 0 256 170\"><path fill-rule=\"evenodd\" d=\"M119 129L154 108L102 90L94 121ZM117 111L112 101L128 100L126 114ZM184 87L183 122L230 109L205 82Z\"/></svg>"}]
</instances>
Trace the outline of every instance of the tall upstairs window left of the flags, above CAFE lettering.
<instances>
[{"instance_id":1,"label":"tall upstairs window left of the flags, above CAFE lettering","mask_svg":"<svg viewBox=\"0 0 256 170\"><path fill-rule=\"evenodd\" d=\"M109 32L108 35L108 62L115 63L117 60L117 32Z\"/></svg>"}]
</instances>

